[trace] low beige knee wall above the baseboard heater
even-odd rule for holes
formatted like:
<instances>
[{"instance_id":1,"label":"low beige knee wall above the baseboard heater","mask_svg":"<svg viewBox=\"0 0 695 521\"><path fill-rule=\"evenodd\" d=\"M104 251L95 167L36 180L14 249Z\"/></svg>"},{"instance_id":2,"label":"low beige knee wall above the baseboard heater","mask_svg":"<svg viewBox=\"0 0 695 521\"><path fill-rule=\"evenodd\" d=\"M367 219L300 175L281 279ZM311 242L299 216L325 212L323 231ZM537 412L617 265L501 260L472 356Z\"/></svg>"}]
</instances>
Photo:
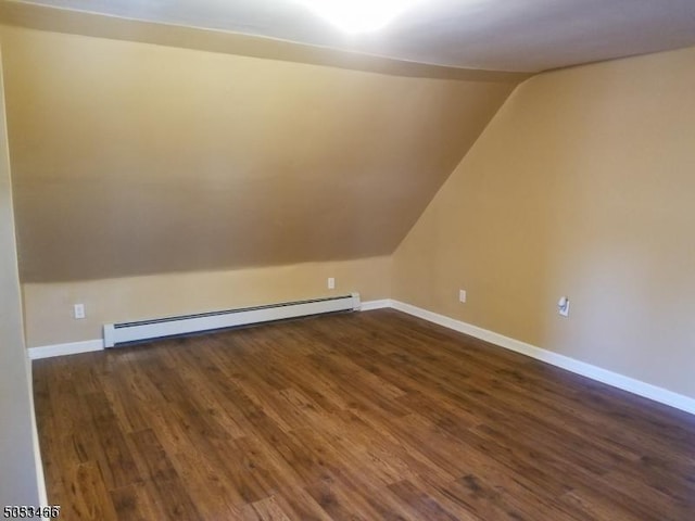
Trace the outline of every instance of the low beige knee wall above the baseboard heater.
<instances>
[{"instance_id":1,"label":"low beige knee wall above the baseboard heater","mask_svg":"<svg viewBox=\"0 0 695 521\"><path fill-rule=\"evenodd\" d=\"M336 289L327 289L328 277ZM29 347L102 338L104 323L216 312L358 292L363 301L391 294L391 258L162 274L80 282L25 283ZM73 318L85 304L85 319Z\"/></svg>"}]
</instances>

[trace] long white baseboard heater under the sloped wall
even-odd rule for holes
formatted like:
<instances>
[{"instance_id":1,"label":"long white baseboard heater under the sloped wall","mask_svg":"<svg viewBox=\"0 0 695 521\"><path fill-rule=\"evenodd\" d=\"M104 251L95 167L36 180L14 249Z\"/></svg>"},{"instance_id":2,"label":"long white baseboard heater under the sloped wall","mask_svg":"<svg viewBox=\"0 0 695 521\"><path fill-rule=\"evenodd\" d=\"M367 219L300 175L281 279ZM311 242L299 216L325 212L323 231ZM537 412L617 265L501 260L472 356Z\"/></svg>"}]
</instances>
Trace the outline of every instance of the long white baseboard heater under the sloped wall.
<instances>
[{"instance_id":1,"label":"long white baseboard heater under the sloped wall","mask_svg":"<svg viewBox=\"0 0 695 521\"><path fill-rule=\"evenodd\" d=\"M359 294L283 302L266 306L200 313L180 317L157 318L138 322L104 325L104 347L141 340L175 336L179 334L212 331L252 323L269 322L287 318L307 317L325 313L359 309Z\"/></svg>"}]
</instances>

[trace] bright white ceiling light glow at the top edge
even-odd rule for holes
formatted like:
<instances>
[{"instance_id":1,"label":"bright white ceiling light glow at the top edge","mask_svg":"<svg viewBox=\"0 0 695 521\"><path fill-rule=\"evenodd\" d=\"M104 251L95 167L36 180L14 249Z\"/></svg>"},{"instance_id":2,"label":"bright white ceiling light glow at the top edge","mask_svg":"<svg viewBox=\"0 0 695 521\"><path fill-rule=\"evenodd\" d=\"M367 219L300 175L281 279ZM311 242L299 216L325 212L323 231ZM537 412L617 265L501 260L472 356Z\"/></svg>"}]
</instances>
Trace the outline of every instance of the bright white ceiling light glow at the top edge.
<instances>
[{"instance_id":1,"label":"bright white ceiling light glow at the top edge","mask_svg":"<svg viewBox=\"0 0 695 521\"><path fill-rule=\"evenodd\" d=\"M422 0L296 0L345 33L378 30Z\"/></svg>"}]
</instances>

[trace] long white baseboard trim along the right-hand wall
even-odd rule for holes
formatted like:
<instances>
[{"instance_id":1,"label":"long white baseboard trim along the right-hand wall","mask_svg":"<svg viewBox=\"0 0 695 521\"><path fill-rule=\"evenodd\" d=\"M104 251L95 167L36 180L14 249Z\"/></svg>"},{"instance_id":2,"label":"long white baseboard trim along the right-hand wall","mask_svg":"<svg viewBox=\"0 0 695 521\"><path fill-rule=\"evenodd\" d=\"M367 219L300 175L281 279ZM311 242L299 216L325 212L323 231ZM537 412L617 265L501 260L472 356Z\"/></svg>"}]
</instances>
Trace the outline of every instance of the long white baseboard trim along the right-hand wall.
<instances>
[{"instance_id":1,"label":"long white baseboard trim along the right-hand wall","mask_svg":"<svg viewBox=\"0 0 695 521\"><path fill-rule=\"evenodd\" d=\"M427 309L422 309L410 304L405 304L399 301L391 301L391 307L400 312L407 313L408 315L422 318L430 322L438 323L439 326L453 329L454 331L458 331L465 334L469 334L470 336L484 340L485 342L498 345L500 347L504 347L506 350L530 356L531 358L535 358L553 366L567 369L568 371L581 374L586 378L591 378L592 380L607 383L608 385L612 385L614 387L618 387L639 396L643 396L645 398L649 398L655 402L659 402L661 404L669 405L677 409L695 415L695 398L691 398L690 396L674 393L667 389L658 387L656 385L652 385L650 383L642 382L640 380L635 380L634 378L626 377L607 369L602 369L601 367L592 366L591 364L570 358L569 356L553 353L552 351L543 350L541 347L536 347L534 345L510 339L509 336L505 336L503 334L495 333L477 326L472 326L462 320L456 320L444 315L428 312Z\"/></svg>"}]
</instances>

